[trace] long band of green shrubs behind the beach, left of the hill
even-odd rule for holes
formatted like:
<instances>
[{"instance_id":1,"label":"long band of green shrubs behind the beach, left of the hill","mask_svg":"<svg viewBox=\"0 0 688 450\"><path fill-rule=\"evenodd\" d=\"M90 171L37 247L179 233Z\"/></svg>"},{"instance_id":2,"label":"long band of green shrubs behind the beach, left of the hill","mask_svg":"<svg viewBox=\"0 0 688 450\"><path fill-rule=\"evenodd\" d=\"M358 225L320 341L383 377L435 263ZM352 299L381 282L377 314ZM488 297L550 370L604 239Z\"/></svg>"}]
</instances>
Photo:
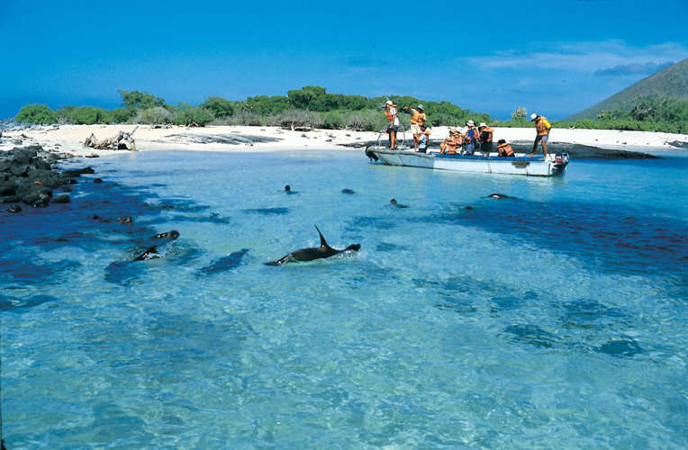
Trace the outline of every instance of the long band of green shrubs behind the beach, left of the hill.
<instances>
[{"instance_id":1,"label":"long band of green shrubs behind the beach, left of the hill","mask_svg":"<svg viewBox=\"0 0 688 450\"><path fill-rule=\"evenodd\" d=\"M363 95L330 94L324 87L307 85L288 91L286 96L258 95L245 101L231 102L222 97L207 97L198 106L180 102L177 106L148 92L117 91L122 108L112 111L91 106L65 106L52 112L45 105L25 106L17 121L32 123L140 123L148 125L257 125L281 126L291 130L324 128L381 130L385 124L384 105L389 99L398 105L400 120L411 118L403 106L423 104L431 125L460 126L466 121L492 122L490 114L476 113L449 102L427 102L410 96L367 98ZM28 108L28 109L27 109ZM408 111L408 110L407 110Z\"/></svg>"}]
</instances>

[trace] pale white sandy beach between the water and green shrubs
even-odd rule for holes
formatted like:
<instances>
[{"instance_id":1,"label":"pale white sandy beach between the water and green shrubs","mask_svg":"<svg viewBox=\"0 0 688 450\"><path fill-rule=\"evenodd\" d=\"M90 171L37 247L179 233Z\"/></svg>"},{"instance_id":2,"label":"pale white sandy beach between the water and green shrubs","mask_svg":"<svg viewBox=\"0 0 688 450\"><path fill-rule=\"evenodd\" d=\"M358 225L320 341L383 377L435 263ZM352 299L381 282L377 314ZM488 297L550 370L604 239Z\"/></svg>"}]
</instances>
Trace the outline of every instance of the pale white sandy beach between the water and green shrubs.
<instances>
[{"instance_id":1,"label":"pale white sandy beach between the water and green shrubs","mask_svg":"<svg viewBox=\"0 0 688 450\"><path fill-rule=\"evenodd\" d=\"M48 151L69 153L75 157L92 155L111 155L113 150L98 150L83 147L84 140L91 134L97 139L113 137L120 130L131 132L136 125L60 125L59 128L43 127L42 130L15 130L5 132L0 150L14 147L40 144ZM465 130L465 129L464 129ZM227 137L236 136L240 139L269 138L270 142L253 143L217 143L195 142L198 136ZM342 150L357 148L347 145L376 140L377 133L358 132L350 130L311 130L292 131L277 127L249 127L249 126L209 126L204 128L152 128L140 125L134 132L138 151L152 150L195 150L195 151L234 151L257 152L276 150L295 150L315 148L319 150ZM448 127L432 129L430 139L444 139L448 136ZM512 141L532 141L535 137L534 129L497 128L494 129L494 141L506 139ZM386 136L383 138L386 140ZM411 139L410 133L407 139ZM16 142L22 141L19 145ZM683 152L685 148L671 146L669 142L687 142L688 136L649 131L618 131L618 130L568 130L553 129L550 135L549 147L556 148L557 143L580 144L604 149L619 149L628 151L651 152L652 150L672 150ZM125 150L119 150L125 151Z\"/></svg>"}]
</instances>

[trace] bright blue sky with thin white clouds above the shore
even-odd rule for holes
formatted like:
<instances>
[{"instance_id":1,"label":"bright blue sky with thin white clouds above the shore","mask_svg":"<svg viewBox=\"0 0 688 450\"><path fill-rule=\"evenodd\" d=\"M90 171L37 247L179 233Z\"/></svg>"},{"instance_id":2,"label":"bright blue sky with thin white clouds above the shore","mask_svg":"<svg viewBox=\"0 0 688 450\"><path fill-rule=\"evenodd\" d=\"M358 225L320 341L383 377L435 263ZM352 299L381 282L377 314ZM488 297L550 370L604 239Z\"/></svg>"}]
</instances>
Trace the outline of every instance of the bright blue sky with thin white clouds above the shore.
<instances>
[{"instance_id":1,"label":"bright blue sky with thin white clouds above the shore","mask_svg":"<svg viewBox=\"0 0 688 450\"><path fill-rule=\"evenodd\" d=\"M112 109L118 89L198 104L321 85L557 120L688 58L687 18L688 0L4 0L0 118Z\"/></svg>"}]
</instances>

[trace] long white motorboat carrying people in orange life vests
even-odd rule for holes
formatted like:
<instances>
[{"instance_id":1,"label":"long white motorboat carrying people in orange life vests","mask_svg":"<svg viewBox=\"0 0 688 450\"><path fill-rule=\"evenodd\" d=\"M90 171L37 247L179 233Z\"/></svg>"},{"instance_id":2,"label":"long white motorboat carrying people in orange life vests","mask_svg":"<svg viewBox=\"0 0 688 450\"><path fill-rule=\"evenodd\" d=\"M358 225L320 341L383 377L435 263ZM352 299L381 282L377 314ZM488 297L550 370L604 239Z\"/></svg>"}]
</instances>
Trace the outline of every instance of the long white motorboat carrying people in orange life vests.
<instances>
[{"instance_id":1,"label":"long white motorboat carrying people in orange life vests","mask_svg":"<svg viewBox=\"0 0 688 450\"><path fill-rule=\"evenodd\" d=\"M489 155L440 155L409 150L389 150L369 147L366 155L389 166L424 167L455 172L480 174L552 176L564 173L568 165L568 154L557 152L547 157L498 157Z\"/></svg>"}]
</instances>

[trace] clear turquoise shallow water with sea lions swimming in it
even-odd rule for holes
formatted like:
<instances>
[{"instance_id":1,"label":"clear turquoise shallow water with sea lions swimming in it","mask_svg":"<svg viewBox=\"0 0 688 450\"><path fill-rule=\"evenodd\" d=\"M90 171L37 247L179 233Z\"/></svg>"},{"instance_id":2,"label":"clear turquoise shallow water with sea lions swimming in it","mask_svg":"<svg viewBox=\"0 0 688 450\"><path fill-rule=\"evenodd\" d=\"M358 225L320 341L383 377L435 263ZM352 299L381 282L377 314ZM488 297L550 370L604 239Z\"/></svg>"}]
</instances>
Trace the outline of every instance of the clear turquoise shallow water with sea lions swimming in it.
<instances>
[{"instance_id":1,"label":"clear turquoise shallow water with sea lions swimming in it","mask_svg":"<svg viewBox=\"0 0 688 450\"><path fill-rule=\"evenodd\" d=\"M688 446L688 157L362 153L119 153L1 211L7 448ZM360 251L264 264L315 225Z\"/></svg>"}]
</instances>

